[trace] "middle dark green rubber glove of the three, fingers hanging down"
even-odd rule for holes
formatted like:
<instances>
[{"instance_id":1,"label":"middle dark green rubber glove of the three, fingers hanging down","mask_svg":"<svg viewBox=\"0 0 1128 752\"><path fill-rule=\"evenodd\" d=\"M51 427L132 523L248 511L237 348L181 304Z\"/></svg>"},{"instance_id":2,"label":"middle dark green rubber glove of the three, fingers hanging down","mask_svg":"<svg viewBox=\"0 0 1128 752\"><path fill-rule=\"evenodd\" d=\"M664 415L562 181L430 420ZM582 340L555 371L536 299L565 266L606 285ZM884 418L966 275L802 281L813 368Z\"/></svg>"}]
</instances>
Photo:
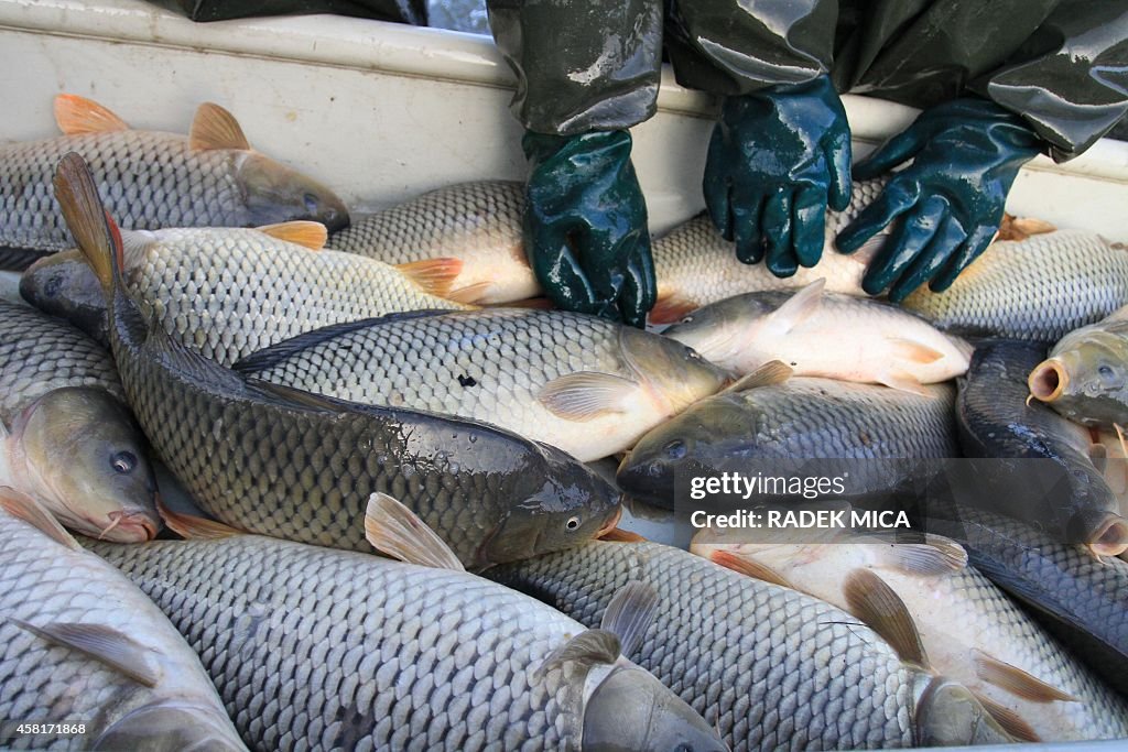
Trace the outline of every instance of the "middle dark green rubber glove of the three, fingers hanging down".
<instances>
[{"instance_id":1,"label":"middle dark green rubber glove of the three, fingers hanging down","mask_svg":"<svg viewBox=\"0 0 1128 752\"><path fill-rule=\"evenodd\" d=\"M776 276L822 256L827 205L849 204L849 124L830 78L729 97L705 161L705 206L737 257Z\"/></svg>"}]
</instances>

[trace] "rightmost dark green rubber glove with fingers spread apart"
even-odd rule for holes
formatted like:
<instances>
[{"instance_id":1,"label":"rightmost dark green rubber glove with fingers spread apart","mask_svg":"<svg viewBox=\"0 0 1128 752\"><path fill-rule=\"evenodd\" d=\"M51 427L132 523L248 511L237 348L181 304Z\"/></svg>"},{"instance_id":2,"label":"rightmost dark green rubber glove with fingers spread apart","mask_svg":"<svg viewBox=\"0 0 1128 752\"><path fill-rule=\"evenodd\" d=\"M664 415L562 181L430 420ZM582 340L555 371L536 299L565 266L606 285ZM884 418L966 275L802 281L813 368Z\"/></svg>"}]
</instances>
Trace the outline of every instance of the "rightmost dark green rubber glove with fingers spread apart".
<instances>
[{"instance_id":1,"label":"rightmost dark green rubber glove with fingers spread apart","mask_svg":"<svg viewBox=\"0 0 1128 752\"><path fill-rule=\"evenodd\" d=\"M946 290L990 242L1019 168L1042 143L1021 117L986 99L953 99L925 110L854 168L866 180L908 159L875 202L838 235L851 254L904 214L870 264L862 287L892 284L900 302L925 282Z\"/></svg>"}]
</instances>

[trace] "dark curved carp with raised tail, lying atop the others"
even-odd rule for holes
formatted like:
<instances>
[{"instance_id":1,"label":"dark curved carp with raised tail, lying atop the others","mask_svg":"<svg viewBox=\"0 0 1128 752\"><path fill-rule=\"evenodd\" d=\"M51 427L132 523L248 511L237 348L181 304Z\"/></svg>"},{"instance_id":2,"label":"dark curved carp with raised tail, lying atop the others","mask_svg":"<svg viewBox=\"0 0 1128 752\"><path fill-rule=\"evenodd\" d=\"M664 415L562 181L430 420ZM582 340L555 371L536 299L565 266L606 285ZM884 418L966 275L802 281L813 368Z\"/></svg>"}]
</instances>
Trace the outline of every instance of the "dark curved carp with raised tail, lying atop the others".
<instances>
[{"instance_id":1,"label":"dark curved carp with raised tail, lying atop the others","mask_svg":"<svg viewBox=\"0 0 1128 752\"><path fill-rule=\"evenodd\" d=\"M155 451L194 501L263 534L369 550L369 494L418 514L472 567L576 545L617 493L563 452L490 426L253 386L150 327L114 260L121 246L78 157L60 203L106 289L122 384Z\"/></svg>"}]
</instances>

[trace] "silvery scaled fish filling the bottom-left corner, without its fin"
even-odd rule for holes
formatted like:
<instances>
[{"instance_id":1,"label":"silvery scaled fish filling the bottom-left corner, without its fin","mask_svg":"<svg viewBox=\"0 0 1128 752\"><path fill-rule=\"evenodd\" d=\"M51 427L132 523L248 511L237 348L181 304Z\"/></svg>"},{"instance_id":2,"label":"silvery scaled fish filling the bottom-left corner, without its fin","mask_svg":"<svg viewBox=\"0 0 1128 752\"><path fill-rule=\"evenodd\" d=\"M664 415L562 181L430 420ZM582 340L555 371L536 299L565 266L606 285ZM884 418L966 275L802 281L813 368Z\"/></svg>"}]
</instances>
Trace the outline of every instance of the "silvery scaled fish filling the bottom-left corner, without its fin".
<instances>
[{"instance_id":1,"label":"silvery scaled fish filling the bottom-left corner, without its fin","mask_svg":"<svg viewBox=\"0 0 1128 752\"><path fill-rule=\"evenodd\" d=\"M0 717L85 720L87 733L0 738L0 744L245 750L200 660L164 613L113 566L72 539L72 547L60 540L0 510L0 613L6 617L0 619ZM155 685L54 645L14 619L38 628L102 628L115 643L135 646L131 665L155 678Z\"/></svg>"}]
</instances>

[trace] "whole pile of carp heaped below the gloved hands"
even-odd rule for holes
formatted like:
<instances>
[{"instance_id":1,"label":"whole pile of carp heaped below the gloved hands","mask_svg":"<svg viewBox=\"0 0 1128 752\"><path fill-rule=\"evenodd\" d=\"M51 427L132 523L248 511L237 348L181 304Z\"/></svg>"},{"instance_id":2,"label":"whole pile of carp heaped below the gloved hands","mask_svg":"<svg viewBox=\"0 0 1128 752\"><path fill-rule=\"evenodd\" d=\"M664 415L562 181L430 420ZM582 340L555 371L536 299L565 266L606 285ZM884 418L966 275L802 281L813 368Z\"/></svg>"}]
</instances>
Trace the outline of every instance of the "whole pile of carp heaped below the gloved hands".
<instances>
[{"instance_id":1,"label":"whole pile of carp heaped below the gloved hands","mask_svg":"<svg viewBox=\"0 0 1128 752\"><path fill-rule=\"evenodd\" d=\"M0 147L0 746L1128 737L1123 248L1008 219L893 306L858 183L790 278L655 238L640 330L521 302L520 184L350 218L217 105L56 120ZM617 527L787 472L916 530Z\"/></svg>"}]
</instances>

